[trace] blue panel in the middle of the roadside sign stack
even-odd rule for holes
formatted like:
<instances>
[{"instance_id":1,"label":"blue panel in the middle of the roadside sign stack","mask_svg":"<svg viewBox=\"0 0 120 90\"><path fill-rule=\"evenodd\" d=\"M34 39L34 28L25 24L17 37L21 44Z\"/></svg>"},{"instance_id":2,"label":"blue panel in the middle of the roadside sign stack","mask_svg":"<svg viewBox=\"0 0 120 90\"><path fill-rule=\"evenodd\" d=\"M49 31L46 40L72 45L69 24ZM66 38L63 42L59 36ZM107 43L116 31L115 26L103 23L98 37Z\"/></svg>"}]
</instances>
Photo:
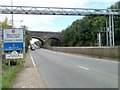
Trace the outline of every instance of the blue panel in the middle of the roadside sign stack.
<instances>
[{"instance_id":1,"label":"blue panel in the middle of the roadside sign stack","mask_svg":"<svg viewBox=\"0 0 120 90\"><path fill-rule=\"evenodd\" d=\"M23 50L23 42L5 42L4 51L21 51Z\"/></svg>"}]
</instances>

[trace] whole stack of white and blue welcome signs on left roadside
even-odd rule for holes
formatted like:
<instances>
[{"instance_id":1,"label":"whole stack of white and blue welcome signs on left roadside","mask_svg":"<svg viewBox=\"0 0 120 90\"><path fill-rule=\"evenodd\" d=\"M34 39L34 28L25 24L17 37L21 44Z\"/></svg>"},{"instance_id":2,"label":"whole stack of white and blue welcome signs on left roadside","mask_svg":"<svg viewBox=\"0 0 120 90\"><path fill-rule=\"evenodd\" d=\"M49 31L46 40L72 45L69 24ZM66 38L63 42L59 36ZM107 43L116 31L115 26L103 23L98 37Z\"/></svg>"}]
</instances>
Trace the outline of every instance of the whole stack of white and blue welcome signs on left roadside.
<instances>
[{"instance_id":1,"label":"whole stack of white and blue welcome signs on left roadside","mask_svg":"<svg viewBox=\"0 0 120 90\"><path fill-rule=\"evenodd\" d=\"M3 53L6 59L23 58L24 30L22 28L3 29Z\"/></svg>"}]
</instances>

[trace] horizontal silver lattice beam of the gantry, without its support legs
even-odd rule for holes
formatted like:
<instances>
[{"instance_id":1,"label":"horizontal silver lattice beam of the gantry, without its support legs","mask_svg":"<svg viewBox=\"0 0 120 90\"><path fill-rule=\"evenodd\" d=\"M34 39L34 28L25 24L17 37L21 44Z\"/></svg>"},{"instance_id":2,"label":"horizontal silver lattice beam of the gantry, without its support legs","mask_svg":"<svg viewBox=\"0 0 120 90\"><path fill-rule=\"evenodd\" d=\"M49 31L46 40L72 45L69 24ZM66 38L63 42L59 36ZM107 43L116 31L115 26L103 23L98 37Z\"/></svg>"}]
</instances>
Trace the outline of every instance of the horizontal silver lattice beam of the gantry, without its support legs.
<instances>
[{"instance_id":1,"label":"horizontal silver lattice beam of the gantry, without its support legs","mask_svg":"<svg viewBox=\"0 0 120 90\"><path fill-rule=\"evenodd\" d=\"M2 14L36 14L36 15L120 15L118 9L88 9L88 8L61 8L61 7L32 7L32 6L7 6L1 5Z\"/></svg>"}]
</instances>

